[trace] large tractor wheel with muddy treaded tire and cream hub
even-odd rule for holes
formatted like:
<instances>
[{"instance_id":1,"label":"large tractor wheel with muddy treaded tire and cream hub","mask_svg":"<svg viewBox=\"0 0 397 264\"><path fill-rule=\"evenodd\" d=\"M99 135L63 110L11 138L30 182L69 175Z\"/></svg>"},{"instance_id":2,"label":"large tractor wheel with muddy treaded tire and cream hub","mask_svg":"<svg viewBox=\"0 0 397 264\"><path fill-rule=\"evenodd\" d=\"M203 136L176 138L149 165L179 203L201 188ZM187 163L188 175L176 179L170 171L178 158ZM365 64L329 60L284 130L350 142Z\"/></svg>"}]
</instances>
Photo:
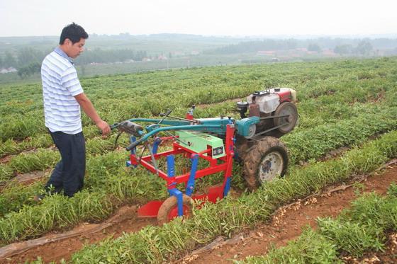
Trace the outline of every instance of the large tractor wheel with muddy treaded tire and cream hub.
<instances>
[{"instance_id":1,"label":"large tractor wheel with muddy treaded tire and cream hub","mask_svg":"<svg viewBox=\"0 0 397 264\"><path fill-rule=\"evenodd\" d=\"M279 139L264 137L247 151L244 161L245 180L248 187L255 190L262 183L284 176L288 166L288 153Z\"/></svg>"}]
</instances>

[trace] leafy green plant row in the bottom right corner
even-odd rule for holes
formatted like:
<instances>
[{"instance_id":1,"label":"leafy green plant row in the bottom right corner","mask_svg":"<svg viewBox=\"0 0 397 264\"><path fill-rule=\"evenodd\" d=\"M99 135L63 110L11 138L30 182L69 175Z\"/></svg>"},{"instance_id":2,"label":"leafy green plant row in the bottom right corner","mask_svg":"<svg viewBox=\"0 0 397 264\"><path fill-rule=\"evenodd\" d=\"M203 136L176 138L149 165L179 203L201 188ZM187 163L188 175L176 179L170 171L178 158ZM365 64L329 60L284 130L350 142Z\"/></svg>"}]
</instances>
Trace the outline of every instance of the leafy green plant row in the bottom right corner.
<instances>
[{"instance_id":1,"label":"leafy green plant row in the bottom right corner","mask_svg":"<svg viewBox=\"0 0 397 264\"><path fill-rule=\"evenodd\" d=\"M343 263L342 254L360 258L366 252L382 251L387 234L397 231L396 195L393 183L385 197L361 195L336 219L318 219L318 231L308 228L287 246L237 263Z\"/></svg>"}]
</instances>

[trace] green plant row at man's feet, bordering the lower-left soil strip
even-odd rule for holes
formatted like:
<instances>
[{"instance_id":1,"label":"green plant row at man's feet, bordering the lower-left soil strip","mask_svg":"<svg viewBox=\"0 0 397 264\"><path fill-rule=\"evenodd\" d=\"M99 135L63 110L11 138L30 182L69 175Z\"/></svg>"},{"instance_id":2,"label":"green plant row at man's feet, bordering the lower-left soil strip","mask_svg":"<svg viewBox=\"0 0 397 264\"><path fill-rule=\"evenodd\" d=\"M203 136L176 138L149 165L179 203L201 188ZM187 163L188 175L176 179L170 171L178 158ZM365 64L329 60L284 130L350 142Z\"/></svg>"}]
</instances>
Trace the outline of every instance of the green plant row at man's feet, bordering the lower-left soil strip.
<instances>
[{"instance_id":1,"label":"green plant row at man's feet, bordering the lower-left soil strip","mask_svg":"<svg viewBox=\"0 0 397 264\"><path fill-rule=\"evenodd\" d=\"M1 245L34 238L53 229L69 228L79 222L99 221L122 203L142 202L147 197L161 199L166 195L160 179L143 171L131 173L119 169L106 179L87 181L89 185L100 181L101 185L86 188L72 198L47 195L38 205L26 205L18 212L6 214L0 219Z\"/></svg>"}]
</instances>

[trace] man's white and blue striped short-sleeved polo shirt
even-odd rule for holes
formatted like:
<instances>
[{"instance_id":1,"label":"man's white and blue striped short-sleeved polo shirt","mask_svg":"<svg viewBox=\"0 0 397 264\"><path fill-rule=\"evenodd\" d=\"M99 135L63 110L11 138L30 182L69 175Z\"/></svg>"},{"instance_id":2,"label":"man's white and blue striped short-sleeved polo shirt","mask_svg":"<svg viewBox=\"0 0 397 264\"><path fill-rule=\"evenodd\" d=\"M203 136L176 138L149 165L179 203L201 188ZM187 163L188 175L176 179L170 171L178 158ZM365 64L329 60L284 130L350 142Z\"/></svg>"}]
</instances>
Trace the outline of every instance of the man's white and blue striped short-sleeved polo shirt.
<instances>
[{"instance_id":1,"label":"man's white and blue striped short-sleeved polo shirt","mask_svg":"<svg viewBox=\"0 0 397 264\"><path fill-rule=\"evenodd\" d=\"M57 47L41 65L45 127L51 132L82 132L80 105L74 96L83 93L73 61Z\"/></svg>"}]
</instances>

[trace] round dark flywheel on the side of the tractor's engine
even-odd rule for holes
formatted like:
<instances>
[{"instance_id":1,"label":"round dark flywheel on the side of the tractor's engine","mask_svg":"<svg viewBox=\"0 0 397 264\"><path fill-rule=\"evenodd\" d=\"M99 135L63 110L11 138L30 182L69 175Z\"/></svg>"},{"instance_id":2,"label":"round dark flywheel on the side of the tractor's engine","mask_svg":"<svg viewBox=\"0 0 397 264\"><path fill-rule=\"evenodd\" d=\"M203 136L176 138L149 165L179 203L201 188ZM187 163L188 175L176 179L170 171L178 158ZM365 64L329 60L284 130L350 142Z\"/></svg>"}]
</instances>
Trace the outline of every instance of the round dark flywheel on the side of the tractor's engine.
<instances>
[{"instance_id":1,"label":"round dark flywheel on the side of the tractor's engine","mask_svg":"<svg viewBox=\"0 0 397 264\"><path fill-rule=\"evenodd\" d=\"M296 105L291 102L284 102L277 106L274 111L274 115L289 115L289 117L274 118L274 127L283 125L277 128L281 134L286 134L293 130L293 127L296 125L296 121L298 121L298 110L296 110Z\"/></svg>"}]
</instances>

